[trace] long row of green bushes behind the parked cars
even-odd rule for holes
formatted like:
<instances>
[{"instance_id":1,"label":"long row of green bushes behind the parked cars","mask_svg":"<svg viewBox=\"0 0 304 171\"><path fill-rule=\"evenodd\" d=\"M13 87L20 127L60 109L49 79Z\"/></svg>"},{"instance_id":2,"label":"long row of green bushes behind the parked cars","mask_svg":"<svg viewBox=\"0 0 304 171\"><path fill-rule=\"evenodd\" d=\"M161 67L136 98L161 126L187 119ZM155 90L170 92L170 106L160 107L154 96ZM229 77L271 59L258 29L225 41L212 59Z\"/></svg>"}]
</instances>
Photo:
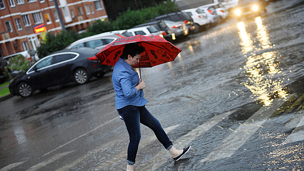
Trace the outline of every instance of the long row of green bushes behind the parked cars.
<instances>
[{"instance_id":1,"label":"long row of green bushes behind the parked cars","mask_svg":"<svg viewBox=\"0 0 304 171\"><path fill-rule=\"evenodd\" d=\"M139 6L144 5L143 2L139 2ZM160 4L149 4L153 7L142 8L140 10L131 10L130 8L120 14L115 21L101 21L97 20L92 22L86 32L78 34L76 31L61 31L58 35L53 33L47 33L45 40L37 48L37 54L39 58L45 57L53 52L64 49L69 44L92 35L114 31L124 30L132 28L135 25L139 25L153 19L162 14L178 11L178 6L174 1L166 0Z\"/></svg>"}]
</instances>

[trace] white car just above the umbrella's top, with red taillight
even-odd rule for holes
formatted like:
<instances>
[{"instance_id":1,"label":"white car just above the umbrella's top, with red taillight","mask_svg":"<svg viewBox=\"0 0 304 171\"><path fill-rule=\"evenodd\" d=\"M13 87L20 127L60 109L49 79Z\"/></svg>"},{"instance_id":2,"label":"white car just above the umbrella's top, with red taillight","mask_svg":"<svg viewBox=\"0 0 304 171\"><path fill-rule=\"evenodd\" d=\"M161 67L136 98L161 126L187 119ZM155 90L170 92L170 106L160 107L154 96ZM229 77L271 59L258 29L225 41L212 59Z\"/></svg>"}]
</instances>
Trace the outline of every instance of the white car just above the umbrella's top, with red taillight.
<instances>
[{"instance_id":1,"label":"white car just above the umbrella's top, with red taillight","mask_svg":"<svg viewBox=\"0 0 304 171\"><path fill-rule=\"evenodd\" d=\"M161 36L163 37L163 32L158 30L155 26L153 25L147 25L147 26L142 26L142 27L137 27L137 28L130 28L126 30L127 32L131 33L132 36L135 35L142 35L142 36Z\"/></svg>"}]
</instances>

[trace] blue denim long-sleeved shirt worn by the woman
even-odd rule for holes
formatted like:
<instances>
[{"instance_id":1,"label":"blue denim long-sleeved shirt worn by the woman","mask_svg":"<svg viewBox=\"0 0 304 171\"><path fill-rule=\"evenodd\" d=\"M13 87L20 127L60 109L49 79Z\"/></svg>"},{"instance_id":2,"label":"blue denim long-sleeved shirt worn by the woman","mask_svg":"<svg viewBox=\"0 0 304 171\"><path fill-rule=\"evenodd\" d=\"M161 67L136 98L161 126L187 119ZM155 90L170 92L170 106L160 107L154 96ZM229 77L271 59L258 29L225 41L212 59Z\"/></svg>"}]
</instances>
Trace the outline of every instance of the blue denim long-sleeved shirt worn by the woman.
<instances>
[{"instance_id":1,"label":"blue denim long-sleeved shirt worn by the woman","mask_svg":"<svg viewBox=\"0 0 304 171\"><path fill-rule=\"evenodd\" d=\"M112 82L116 93L116 109L128 105L142 107L148 103L148 101L143 98L143 92L141 97L141 91L137 91L137 88L135 88L139 83L138 73L121 58L119 58L114 66Z\"/></svg>"}]
</instances>

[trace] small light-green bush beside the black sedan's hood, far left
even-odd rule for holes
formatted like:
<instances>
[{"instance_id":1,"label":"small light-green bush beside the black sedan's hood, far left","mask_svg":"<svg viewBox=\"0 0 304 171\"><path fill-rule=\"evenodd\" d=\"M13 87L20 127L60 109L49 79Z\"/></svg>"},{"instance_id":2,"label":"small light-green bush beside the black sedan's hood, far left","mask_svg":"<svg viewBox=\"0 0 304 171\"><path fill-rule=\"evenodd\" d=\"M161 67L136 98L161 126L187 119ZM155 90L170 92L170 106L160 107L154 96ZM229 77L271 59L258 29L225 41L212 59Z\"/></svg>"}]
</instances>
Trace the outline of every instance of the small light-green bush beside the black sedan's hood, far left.
<instances>
[{"instance_id":1,"label":"small light-green bush beside the black sedan's hood, far left","mask_svg":"<svg viewBox=\"0 0 304 171\"><path fill-rule=\"evenodd\" d=\"M11 57L5 66L4 75L12 79L12 71L25 72L30 68L30 63L22 55Z\"/></svg>"}]
</instances>

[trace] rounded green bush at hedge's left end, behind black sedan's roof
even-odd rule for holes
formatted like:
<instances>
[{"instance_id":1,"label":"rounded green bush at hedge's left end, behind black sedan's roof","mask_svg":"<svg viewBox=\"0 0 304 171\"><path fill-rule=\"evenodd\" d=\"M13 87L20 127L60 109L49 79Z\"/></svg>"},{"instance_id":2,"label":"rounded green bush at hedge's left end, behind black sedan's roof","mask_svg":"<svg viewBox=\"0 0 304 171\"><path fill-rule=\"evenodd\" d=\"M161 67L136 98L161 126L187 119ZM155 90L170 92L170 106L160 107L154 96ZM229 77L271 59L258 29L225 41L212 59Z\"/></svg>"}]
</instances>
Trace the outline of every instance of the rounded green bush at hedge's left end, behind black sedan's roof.
<instances>
[{"instance_id":1,"label":"rounded green bush at hedge's left end, behind black sedan's roof","mask_svg":"<svg viewBox=\"0 0 304 171\"><path fill-rule=\"evenodd\" d=\"M69 44L79 40L79 34L75 31L61 31L57 36L47 33L45 40L37 48L39 58L45 57L50 53L64 49Z\"/></svg>"}]
</instances>

